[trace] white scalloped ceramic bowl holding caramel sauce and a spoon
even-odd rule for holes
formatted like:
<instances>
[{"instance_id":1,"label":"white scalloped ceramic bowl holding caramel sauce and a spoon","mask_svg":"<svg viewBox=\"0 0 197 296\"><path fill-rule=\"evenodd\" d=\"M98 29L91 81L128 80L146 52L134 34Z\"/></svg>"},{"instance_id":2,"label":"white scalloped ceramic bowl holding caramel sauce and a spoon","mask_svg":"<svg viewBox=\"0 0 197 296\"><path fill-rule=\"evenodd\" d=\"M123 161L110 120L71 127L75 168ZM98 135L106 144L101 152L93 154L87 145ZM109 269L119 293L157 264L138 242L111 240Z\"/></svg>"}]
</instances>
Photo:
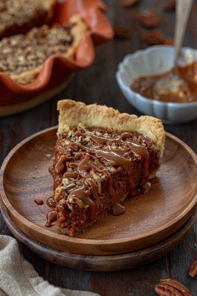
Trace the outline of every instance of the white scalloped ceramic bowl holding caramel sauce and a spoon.
<instances>
[{"instance_id":1,"label":"white scalloped ceramic bowl holding caramel sauce and a spoon","mask_svg":"<svg viewBox=\"0 0 197 296\"><path fill-rule=\"evenodd\" d=\"M180 65L186 65L191 52L197 58L197 50L182 48ZM164 123L180 124L197 118L197 102L168 103L148 99L131 90L129 85L139 76L165 73L173 67L174 47L154 45L145 50L128 54L118 65L116 79L118 85L128 100L139 112L160 118Z\"/></svg>"}]
</instances>

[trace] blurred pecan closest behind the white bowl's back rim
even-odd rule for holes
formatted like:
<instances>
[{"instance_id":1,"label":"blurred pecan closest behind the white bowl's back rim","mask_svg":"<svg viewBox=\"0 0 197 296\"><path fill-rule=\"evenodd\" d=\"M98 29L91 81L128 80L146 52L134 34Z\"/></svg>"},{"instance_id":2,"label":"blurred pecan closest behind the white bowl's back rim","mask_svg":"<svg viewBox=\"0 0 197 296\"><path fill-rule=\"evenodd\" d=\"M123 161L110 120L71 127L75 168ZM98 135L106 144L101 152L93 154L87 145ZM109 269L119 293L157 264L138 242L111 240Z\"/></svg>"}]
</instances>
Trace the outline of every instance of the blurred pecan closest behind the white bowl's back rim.
<instances>
[{"instance_id":1,"label":"blurred pecan closest behind the white bowl's back rim","mask_svg":"<svg viewBox=\"0 0 197 296\"><path fill-rule=\"evenodd\" d=\"M171 37L164 36L159 29L144 30L144 39L149 45L173 45L173 39Z\"/></svg>"}]
</instances>

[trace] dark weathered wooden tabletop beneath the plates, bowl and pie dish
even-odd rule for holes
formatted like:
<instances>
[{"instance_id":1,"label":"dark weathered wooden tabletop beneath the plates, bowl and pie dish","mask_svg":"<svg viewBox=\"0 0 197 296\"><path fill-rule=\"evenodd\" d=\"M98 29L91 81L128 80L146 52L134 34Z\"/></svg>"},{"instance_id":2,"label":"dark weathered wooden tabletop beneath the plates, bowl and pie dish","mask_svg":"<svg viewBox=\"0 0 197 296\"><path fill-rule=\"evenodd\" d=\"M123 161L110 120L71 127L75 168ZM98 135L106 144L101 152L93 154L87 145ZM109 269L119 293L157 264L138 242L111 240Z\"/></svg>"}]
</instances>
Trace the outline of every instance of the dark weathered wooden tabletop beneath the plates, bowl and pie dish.
<instances>
[{"instance_id":1,"label":"dark weathered wooden tabletop beneath the plates, bowl and pie dish","mask_svg":"<svg viewBox=\"0 0 197 296\"><path fill-rule=\"evenodd\" d=\"M48 102L21 114L0 119L0 163L8 152L22 139L37 131L57 125L56 103L60 99L74 99L86 104L97 102L114 107L120 112L140 115L121 94L115 80L117 65L126 54L144 49L147 44L142 37L142 28L137 21L137 12L154 5L160 15L159 28L173 36L174 12L163 12L161 0L141 0L132 8L123 8L120 0L106 0L107 16L115 26L131 28L129 40L113 40L97 46L94 64L78 73L69 86ZM197 1L194 1L184 45L197 48ZM197 152L197 120L184 125L165 125L165 130L174 134ZM181 161L181 159L180 159ZM0 234L11 235L0 214ZM177 279L197 295L197 280L187 274L187 269L197 255L197 224L183 242L166 256L125 271L89 272L58 266L31 252L20 244L22 254L33 264L36 271L51 284L68 289L97 292L102 296L151 296L156 295L154 285L162 277Z\"/></svg>"}]
</instances>

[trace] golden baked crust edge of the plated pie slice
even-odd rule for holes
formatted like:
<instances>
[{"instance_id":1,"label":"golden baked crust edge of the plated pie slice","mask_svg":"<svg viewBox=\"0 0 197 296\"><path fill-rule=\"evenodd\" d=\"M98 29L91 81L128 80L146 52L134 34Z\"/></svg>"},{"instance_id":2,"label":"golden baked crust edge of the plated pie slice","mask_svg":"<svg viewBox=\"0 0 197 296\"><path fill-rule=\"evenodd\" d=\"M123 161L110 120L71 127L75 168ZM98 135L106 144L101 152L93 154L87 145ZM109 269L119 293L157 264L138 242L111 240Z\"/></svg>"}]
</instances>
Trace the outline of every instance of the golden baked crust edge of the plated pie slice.
<instances>
[{"instance_id":1,"label":"golden baked crust edge of the plated pie slice","mask_svg":"<svg viewBox=\"0 0 197 296\"><path fill-rule=\"evenodd\" d=\"M165 131L162 121L158 118L147 115L137 117L134 114L120 113L105 105L86 105L73 100L58 101L57 110L59 111L58 134L78 126L79 123L87 127L137 131L157 145L160 158L163 155ZM156 171L150 175L149 179L154 178L155 173Z\"/></svg>"}]
</instances>

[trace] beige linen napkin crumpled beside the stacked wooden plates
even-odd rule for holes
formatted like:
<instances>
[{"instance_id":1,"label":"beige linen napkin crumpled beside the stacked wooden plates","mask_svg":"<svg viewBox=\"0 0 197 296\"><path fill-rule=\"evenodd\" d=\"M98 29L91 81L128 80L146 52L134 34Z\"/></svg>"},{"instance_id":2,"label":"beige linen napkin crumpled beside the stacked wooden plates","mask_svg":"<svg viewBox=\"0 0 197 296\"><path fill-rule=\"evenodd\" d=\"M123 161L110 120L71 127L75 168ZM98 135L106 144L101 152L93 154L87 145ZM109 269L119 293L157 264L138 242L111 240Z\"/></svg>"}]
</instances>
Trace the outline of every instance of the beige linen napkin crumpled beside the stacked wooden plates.
<instances>
[{"instance_id":1,"label":"beige linen napkin crumpled beside the stacked wooden plates","mask_svg":"<svg viewBox=\"0 0 197 296\"><path fill-rule=\"evenodd\" d=\"M55 287L22 256L17 240L0 235L0 296L99 296Z\"/></svg>"}]
</instances>

